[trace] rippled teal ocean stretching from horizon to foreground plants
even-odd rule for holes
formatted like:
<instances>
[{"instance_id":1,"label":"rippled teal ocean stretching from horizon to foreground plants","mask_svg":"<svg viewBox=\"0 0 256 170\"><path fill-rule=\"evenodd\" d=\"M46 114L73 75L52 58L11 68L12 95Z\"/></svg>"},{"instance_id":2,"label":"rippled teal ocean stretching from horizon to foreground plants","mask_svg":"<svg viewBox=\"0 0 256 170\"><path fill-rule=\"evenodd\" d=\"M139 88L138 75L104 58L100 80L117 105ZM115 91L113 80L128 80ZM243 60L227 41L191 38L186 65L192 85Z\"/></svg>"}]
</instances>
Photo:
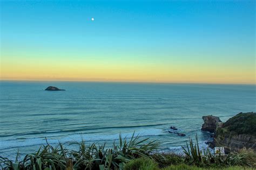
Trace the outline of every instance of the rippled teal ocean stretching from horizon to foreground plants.
<instances>
[{"instance_id":1,"label":"rippled teal ocean stretching from horizon to foreground plants","mask_svg":"<svg viewBox=\"0 0 256 170\"><path fill-rule=\"evenodd\" d=\"M45 91L56 86L65 91ZM0 155L14 158L59 141L106 143L119 137L160 141L179 151L197 134L205 147L202 116L221 121L256 111L255 85L117 82L0 81ZM176 126L185 137L169 133Z\"/></svg>"}]
</instances>

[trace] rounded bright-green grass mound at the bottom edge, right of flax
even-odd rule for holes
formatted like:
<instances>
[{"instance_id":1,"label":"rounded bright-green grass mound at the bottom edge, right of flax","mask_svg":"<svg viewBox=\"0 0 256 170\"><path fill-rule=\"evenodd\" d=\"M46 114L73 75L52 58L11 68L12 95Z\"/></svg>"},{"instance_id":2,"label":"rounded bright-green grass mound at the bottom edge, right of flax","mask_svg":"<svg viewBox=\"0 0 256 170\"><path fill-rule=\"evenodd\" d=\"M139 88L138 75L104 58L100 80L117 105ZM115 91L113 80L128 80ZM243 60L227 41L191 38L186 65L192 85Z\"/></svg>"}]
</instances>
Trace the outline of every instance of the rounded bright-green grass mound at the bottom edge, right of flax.
<instances>
[{"instance_id":1,"label":"rounded bright-green grass mound at the bottom edge, right of flax","mask_svg":"<svg viewBox=\"0 0 256 170\"><path fill-rule=\"evenodd\" d=\"M157 163L149 158L133 159L124 166L125 170L157 170Z\"/></svg>"}]
</instances>

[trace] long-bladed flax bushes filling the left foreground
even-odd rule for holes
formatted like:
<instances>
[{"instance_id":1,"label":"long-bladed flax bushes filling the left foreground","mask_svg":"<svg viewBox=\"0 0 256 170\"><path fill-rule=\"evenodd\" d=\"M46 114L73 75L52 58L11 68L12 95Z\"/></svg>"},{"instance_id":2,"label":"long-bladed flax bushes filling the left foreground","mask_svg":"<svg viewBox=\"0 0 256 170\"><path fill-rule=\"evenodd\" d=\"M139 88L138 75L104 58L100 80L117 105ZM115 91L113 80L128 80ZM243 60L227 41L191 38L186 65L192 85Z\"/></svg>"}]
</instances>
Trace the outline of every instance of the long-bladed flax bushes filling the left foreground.
<instances>
[{"instance_id":1,"label":"long-bladed flax bushes filling the left foreground","mask_svg":"<svg viewBox=\"0 0 256 170\"><path fill-rule=\"evenodd\" d=\"M65 145L77 145L79 149L68 150L63 144L53 147L47 143L37 153L25 155L22 160L18 160L18 154L16 161L0 157L0 169L66 169L68 160L72 160L74 169L118 169L132 159L151 158L159 143L149 141L149 138L140 139L133 133L130 139L123 139L120 135L119 144L113 143L111 148L106 148L105 144L87 146L83 140Z\"/></svg>"}]
</instances>

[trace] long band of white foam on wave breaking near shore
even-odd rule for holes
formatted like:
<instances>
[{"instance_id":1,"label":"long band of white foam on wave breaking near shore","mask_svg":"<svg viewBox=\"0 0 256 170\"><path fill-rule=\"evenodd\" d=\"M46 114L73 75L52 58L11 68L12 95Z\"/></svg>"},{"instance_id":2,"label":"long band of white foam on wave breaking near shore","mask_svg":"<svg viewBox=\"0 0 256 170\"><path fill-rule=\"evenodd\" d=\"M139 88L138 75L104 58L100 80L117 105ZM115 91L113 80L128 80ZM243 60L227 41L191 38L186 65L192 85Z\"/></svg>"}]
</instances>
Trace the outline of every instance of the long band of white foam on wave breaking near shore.
<instances>
[{"instance_id":1,"label":"long band of white foam on wave breaking near shore","mask_svg":"<svg viewBox=\"0 0 256 170\"><path fill-rule=\"evenodd\" d=\"M131 138L133 132L130 133L122 133L122 138ZM163 130L161 129L147 129L139 132L135 132L134 135L137 136L159 136L163 134ZM56 138L56 139L47 139L49 144L58 144L59 141L61 143L66 143L69 141L101 141L101 140L116 140L119 139L118 134L72 134L64 138ZM27 138L27 139L15 139L15 140L2 140L0 141L0 151L6 148L15 148L15 147L26 147L26 146L34 146L34 145L43 145L46 144L44 138Z\"/></svg>"}]
</instances>

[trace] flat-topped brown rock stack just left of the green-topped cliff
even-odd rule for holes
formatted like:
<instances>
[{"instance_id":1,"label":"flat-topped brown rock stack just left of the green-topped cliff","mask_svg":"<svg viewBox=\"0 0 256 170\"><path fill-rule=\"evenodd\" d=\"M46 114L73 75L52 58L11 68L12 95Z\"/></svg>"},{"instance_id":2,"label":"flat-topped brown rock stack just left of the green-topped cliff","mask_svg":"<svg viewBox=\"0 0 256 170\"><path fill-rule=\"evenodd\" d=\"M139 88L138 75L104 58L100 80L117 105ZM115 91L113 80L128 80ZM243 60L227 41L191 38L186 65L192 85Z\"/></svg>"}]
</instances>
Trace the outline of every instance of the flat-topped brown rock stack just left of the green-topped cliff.
<instances>
[{"instance_id":1,"label":"flat-topped brown rock stack just left of the green-topped cliff","mask_svg":"<svg viewBox=\"0 0 256 170\"><path fill-rule=\"evenodd\" d=\"M214 133L217 129L218 123L221 122L220 118L217 116L203 116L204 124L202 125L201 130Z\"/></svg>"}]
</instances>

